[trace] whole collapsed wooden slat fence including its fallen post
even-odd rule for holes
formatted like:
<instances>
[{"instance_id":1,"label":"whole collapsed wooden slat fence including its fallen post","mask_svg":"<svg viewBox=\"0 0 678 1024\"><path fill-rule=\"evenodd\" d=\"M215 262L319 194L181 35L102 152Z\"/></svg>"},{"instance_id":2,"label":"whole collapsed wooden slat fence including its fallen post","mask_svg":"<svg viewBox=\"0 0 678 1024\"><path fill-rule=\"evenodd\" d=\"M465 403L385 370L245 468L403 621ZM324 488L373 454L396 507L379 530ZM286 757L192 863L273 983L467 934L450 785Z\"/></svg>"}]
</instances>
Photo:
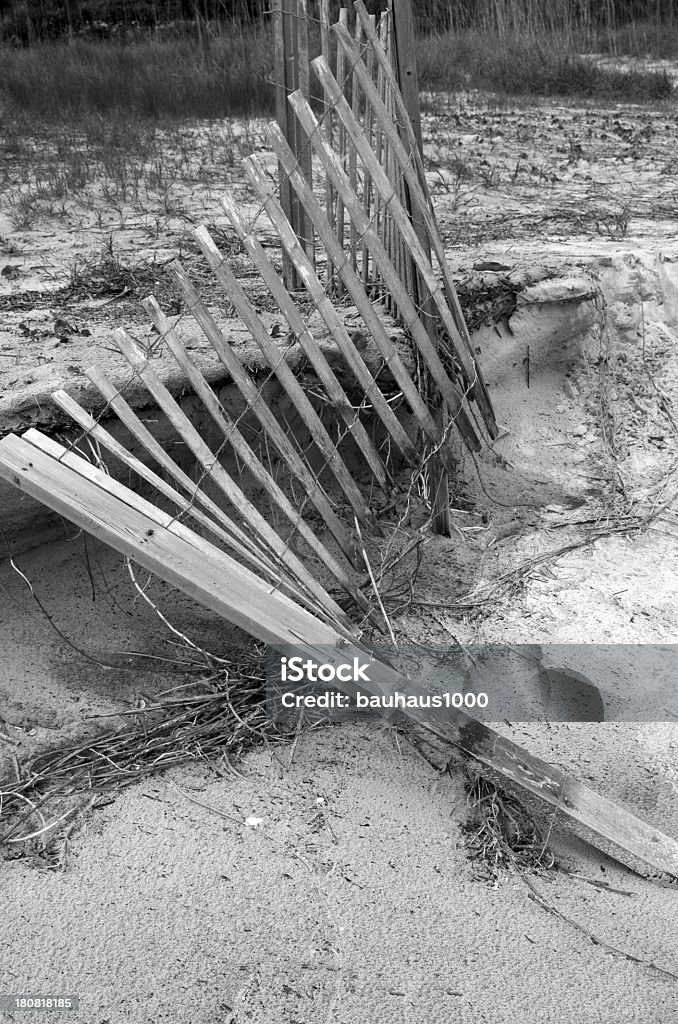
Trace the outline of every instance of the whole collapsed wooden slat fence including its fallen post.
<instances>
[{"instance_id":1,"label":"whole collapsed wooden slat fence including its fallen post","mask_svg":"<svg viewBox=\"0 0 678 1024\"><path fill-rule=\"evenodd\" d=\"M292 0L281 0L277 16L291 7ZM322 9L327 14L327 4ZM258 346L266 368L265 382L276 382L307 436L302 439L298 432L284 429L283 418L266 397L260 372L253 374L244 366L176 261L171 272L177 290L214 358L240 392L249 417L247 429L243 418L234 416L208 382L177 324L150 296L142 304L158 333L152 347L144 349L122 329L116 331L115 341L133 376L143 383L192 453L193 474L168 455L141 422L125 398L125 385L92 368L87 376L105 402L104 412L118 418L143 458L117 439L100 422L101 416L94 419L73 397L57 391L54 401L78 424L81 437L65 447L36 430L23 438L9 435L0 441L0 476L274 648L286 652L292 648L332 664L367 656L373 681L366 689L389 695L401 691L408 680L371 655L361 633L365 625L390 629L381 597L374 593L375 577L363 545L364 531L376 536L384 529L379 514L383 503L392 504L393 495L398 500L397 466L390 453L397 452L415 474L432 458L439 461L442 472L452 473L456 465L452 426L471 451L481 447L483 431L496 436L497 426L444 260L417 126L410 116L412 99L408 103L398 88L393 60L400 31L397 17L382 20L377 29L361 0L355 9L352 36L345 16L334 27L337 77L328 60L327 19L324 55L311 62L324 96L323 123L308 102L304 69L297 68L295 79L286 58L285 75L289 72L291 77L285 79L285 130L280 124L268 129L280 181L271 184L254 157L245 162L259 209L280 241L284 273L293 268L296 282L307 293L310 314L301 299L290 294L257 237L256 224L241 216L232 196L225 196L222 203L231 230L312 369L310 392L292 370L287 351L271 337L212 234L204 226L194 232L214 281ZM290 44L297 47L297 63L303 65L303 27L297 25L295 32L296 43L291 40ZM409 59L407 47L397 50L400 67ZM344 94L344 80L352 86L350 100ZM313 193L311 155L325 175L325 203ZM303 224L295 229L293 222L301 211ZM326 257L324 281L313 239L320 240ZM393 394L380 384L384 375L370 370L332 301L335 282L341 283L362 317L382 371L387 370L397 399L414 418L417 435L395 415ZM416 354L414 371L408 366L406 348L391 336L387 308L375 305L383 288L390 312L407 325ZM322 319L334 342L341 372L320 343L313 315ZM208 444L155 370L153 360L160 347L180 367L216 442ZM251 420L258 425L258 446L252 439ZM81 441L87 441L99 462L99 453L105 450L153 488L166 508L118 482L102 463L85 458L78 446ZM230 462L266 496L268 517L261 501L248 496L241 474L227 470L228 453ZM372 480L370 502L355 483L357 457ZM317 528L319 523L324 530ZM404 550L418 543L415 539ZM394 561L397 557L396 551ZM322 573L309 569L309 559ZM329 582L321 582L320 574ZM409 714L413 721L423 722L423 712ZM499 784L546 805L601 850L635 869L678 876L678 844L673 840L490 727L458 713L455 725L436 725L434 731L475 758Z\"/></svg>"}]
</instances>

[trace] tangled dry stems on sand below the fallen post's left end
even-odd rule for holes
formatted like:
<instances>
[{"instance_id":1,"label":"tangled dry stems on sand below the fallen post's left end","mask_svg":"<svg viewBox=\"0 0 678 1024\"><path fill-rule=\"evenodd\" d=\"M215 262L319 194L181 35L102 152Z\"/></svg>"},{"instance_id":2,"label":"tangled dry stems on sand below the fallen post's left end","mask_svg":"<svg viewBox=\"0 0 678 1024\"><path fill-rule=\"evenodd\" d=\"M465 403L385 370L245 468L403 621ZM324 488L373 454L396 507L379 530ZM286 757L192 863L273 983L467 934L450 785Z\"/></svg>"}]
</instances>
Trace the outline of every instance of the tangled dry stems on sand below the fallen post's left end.
<instances>
[{"instance_id":1,"label":"tangled dry stems on sand below the fallen post's left end","mask_svg":"<svg viewBox=\"0 0 678 1024\"><path fill-rule=\"evenodd\" d=\"M231 769L276 732L266 714L265 655L258 647L221 659L189 688L140 701L127 725L15 765L0 779L0 845L5 856L65 868L69 839L82 815L142 778L187 760L216 759Z\"/></svg>"}]
</instances>

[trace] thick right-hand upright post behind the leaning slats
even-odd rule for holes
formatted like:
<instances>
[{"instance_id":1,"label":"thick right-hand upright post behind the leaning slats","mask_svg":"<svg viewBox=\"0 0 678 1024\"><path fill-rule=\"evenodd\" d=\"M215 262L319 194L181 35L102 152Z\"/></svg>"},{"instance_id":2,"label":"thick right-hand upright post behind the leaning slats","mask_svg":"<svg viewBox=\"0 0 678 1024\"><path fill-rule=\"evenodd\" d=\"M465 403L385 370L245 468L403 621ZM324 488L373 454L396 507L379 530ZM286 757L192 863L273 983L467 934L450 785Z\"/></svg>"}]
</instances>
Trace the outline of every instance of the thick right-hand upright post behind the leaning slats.
<instances>
[{"instance_id":1,"label":"thick right-hand upright post behind the leaning slats","mask_svg":"<svg viewBox=\"0 0 678 1024\"><path fill-rule=\"evenodd\" d=\"M420 155L423 156L423 140L421 132L421 114L419 111L419 82L417 80L417 57L415 51L415 28L412 9L412 0L392 0L392 31L393 48L395 51L395 67L400 93L410 115L410 121L415 133L415 139ZM400 127L400 137L406 144L409 144L408 133L405 127ZM414 158L413 158L414 159ZM431 247L426 229L424 218L416 204L412 203L410 188L407 182L405 187L405 205L412 219L417 238L421 243L428 259L431 257ZM409 266L406 271L408 284L412 283L413 297L418 307L421 309L421 321L426 332L437 347L437 318L431 297L421 280L421 274L414 265L412 257L409 258ZM437 425L444 431L447 427L447 414L441 410L437 414ZM443 537L450 536L450 481L448 471L440 464L437 458L433 458L429 467L429 482L431 495L431 512L433 516L433 529Z\"/></svg>"}]
</instances>

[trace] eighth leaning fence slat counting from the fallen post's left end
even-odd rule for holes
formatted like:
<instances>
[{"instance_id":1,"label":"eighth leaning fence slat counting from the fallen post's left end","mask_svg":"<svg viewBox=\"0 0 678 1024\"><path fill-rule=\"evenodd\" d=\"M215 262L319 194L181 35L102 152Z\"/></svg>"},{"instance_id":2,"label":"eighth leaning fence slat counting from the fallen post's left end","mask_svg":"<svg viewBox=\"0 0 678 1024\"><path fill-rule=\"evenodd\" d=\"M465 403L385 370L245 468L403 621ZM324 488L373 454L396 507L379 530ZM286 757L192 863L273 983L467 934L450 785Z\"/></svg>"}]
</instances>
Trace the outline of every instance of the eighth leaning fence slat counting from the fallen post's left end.
<instances>
[{"instance_id":1,"label":"eighth leaning fence slat counting from the fallen post's left end","mask_svg":"<svg viewBox=\"0 0 678 1024\"><path fill-rule=\"evenodd\" d=\"M277 126L274 127L277 128ZM288 156L291 154L289 147L287 150L287 154ZM245 167L245 172L248 175L250 181L252 182L253 187L257 190L257 194L260 196L268 216L276 225L276 229L278 230L281 237L283 245L288 248L288 252L290 253L290 256L295 263L295 266L299 271L299 274L306 287L306 290L308 291L308 294L315 303L321 316L327 324L330 332L332 333L332 337L336 341L350 371L352 372L353 376L355 377L358 384L363 388L366 397L372 403L376 414L379 416L382 423L384 424L384 426L386 427L389 434L396 442L400 451L406 453L409 457L412 457L412 455L415 452L412 441L410 440L401 424L395 417L392 409L384 398L381 389L379 388L379 385L376 383L372 374L370 373L370 370L365 365L363 356L357 351L355 345L348 336L346 328L344 327L332 302L328 298L327 293L323 288L323 285L321 284L316 274L313 271L313 268L304 259L303 251L300 250L300 247L295 239L291 225L287 222L285 215L283 214L283 210L280 204L276 200L276 197L270 193L270 188L261 165L258 163L255 157L248 157L247 160L244 161L243 166ZM292 162L286 163L285 166L288 168L291 180L293 178L295 181L303 180L302 175L297 175L296 168L292 166ZM310 191L310 189L307 188L305 182L303 191L300 191L300 195L304 197L312 196L312 193ZM308 210L311 209L311 204L308 202L307 199L305 202L305 206ZM335 260L337 267L341 268L342 264L347 263L343 251L341 253L341 260L339 259L338 250L335 252L335 255L337 257ZM343 271L342 271L342 276L343 276Z\"/></svg>"}]
</instances>

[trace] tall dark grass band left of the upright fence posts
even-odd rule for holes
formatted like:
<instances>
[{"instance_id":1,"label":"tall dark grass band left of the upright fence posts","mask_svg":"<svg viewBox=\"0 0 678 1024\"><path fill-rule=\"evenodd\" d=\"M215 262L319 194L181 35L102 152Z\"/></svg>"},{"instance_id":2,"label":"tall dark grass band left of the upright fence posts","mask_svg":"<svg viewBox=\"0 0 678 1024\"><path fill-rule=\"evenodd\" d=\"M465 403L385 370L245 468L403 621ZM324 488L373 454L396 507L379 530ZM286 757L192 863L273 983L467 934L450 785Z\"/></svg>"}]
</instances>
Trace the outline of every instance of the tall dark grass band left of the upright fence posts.
<instances>
[{"instance_id":1,"label":"tall dark grass band left of the upright fence posts","mask_svg":"<svg viewBox=\"0 0 678 1024\"><path fill-rule=\"evenodd\" d=\"M215 38L91 41L4 47L0 98L46 118L129 112L145 118L220 118L273 110L266 25Z\"/></svg>"}]
</instances>

